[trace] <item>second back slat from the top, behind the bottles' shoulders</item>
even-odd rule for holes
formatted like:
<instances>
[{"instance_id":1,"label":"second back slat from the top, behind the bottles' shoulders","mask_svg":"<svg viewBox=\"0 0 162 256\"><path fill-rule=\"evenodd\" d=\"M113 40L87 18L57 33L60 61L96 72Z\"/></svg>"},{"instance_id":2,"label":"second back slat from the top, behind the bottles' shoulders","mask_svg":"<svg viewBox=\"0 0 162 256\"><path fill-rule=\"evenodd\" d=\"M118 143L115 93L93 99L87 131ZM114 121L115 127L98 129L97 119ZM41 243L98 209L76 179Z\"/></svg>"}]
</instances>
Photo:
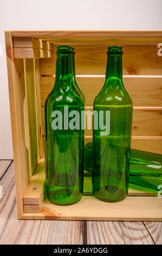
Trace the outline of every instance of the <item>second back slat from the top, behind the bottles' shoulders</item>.
<instances>
[{"instance_id":1,"label":"second back slat from the top, behind the bottles' shoulders","mask_svg":"<svg viewBox=\"0 0 162 256\"><path fill-rule=\"evenodd\" d=\"M95 96L103 87L104 77L77 77L77 82L86 96L86 106L93 106ZM162 107L162 78L124 77L124 86L133 99L133 106ZM54 77L41 77L41 105L54 87Z\"/></svg>"}]
</instances>

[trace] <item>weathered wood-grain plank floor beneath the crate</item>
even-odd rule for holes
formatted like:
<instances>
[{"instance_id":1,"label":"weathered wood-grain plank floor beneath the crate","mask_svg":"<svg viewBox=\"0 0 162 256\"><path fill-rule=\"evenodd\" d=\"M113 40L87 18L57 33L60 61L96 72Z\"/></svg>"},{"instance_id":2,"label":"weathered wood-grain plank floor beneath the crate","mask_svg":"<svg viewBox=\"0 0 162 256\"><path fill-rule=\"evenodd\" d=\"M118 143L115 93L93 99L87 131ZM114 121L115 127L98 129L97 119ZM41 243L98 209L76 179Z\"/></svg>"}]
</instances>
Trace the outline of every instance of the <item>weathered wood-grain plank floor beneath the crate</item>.
<instances>
[{"instance_id":1,"label":"weathered wood-grain plank floor beneath the crate","mask_svg":"<svg viewBox=\"0 0 162 256\"><path fill-rule=\"evenodd\" d=\"M0 160L0 244L162 244L162 222L17 220L14 162ZM0 190L1 191L1 190Z\"/></svg>"}]
</instances>

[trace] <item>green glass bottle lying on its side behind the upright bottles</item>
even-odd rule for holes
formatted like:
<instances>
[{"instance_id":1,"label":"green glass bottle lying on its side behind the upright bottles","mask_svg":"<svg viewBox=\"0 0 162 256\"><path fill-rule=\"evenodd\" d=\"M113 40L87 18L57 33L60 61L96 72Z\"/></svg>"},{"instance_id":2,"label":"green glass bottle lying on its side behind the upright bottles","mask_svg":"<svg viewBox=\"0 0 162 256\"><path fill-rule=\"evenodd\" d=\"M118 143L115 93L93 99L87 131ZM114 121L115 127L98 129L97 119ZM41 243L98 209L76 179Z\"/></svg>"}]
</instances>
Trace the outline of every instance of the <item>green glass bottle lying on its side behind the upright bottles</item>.
<instances>
[{"instance_id":1,"label":"green glass bottle lying on its side behind the upright bottles","mask_svg":"<svg viewBox=\"0 0 162 256\"><path fill-rule=\"evenodd\" d=\"M84 169L92 173L93 143L84 150ZM129 183L159 190L162 184L162 155L131 149Z\"/></svg>"}]
</instances>

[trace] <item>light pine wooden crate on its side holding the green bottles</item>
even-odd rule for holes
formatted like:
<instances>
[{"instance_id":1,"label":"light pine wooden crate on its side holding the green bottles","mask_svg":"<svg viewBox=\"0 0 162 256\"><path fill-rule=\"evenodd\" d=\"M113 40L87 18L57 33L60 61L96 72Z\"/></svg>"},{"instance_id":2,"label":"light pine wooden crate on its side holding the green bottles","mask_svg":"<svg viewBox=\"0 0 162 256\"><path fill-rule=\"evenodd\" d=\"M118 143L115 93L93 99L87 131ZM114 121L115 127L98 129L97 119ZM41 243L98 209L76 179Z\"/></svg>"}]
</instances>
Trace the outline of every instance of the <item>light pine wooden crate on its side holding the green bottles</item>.
<instances>
[{"instance_id":1,"label":"light pine wooden crate on its side holding the green bottles","mask_svg":"<svg viewBox=\"0 0 162 256\"><path fill-rule=\"evenodd\" d=\"M103 86L107 46L123 46L124 84L132 96L132 148L162 153L162 31L7 31L5 32L19 219L161 221L162 199L154 191L129 188L122 202L92 196L86 176L77 204L58 206L44 199L43 106L54 84L56 46L75 47L77 81L93 105ZM85 143L92 131L85 131Z\"/></svg>"}]
</instances>

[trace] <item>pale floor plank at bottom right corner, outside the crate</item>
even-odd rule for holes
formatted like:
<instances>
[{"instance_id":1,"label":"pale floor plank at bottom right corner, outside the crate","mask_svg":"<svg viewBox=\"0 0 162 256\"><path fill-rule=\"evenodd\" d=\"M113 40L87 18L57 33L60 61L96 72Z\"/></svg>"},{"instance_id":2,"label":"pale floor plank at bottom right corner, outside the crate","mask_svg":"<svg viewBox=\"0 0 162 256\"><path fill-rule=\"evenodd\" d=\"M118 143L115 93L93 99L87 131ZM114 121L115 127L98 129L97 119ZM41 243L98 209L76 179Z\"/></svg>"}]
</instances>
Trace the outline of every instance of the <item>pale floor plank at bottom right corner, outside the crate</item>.
<instances>
[{"instance_id":1,"label":"pale floor plank at bottom right corner, outside the crate","mask_svg":"<svg viewBox=\"0 0 162 256\"><path fill-rule=\"evenodd\" d=\"M162 244L162 222L144 222L156 245Z\"/></svg>"}]
</instances>

